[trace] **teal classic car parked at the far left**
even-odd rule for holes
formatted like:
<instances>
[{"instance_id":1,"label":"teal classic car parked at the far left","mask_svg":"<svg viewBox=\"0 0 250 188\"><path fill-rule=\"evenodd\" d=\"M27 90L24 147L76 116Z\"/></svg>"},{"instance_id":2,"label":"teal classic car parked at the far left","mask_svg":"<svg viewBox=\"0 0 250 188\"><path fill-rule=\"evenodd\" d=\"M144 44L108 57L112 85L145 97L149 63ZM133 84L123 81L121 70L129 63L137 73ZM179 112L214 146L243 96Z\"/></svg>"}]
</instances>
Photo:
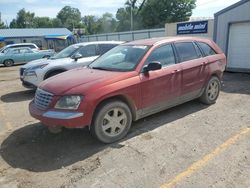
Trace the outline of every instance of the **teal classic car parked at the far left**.
<instances>
[{"instance_id":1,"label":"teal classic car parked at the far left","mask_svg":"<svg viewBox=\"0 0 250 188\"><path fill-rule=\"evenodd\" d=\"M14 64L27 63L32 60L49 58L55 54L54 50L33 51L29 47L9 48L0 53L0 64L10 67Z\"/></svg>"}]
</instances>

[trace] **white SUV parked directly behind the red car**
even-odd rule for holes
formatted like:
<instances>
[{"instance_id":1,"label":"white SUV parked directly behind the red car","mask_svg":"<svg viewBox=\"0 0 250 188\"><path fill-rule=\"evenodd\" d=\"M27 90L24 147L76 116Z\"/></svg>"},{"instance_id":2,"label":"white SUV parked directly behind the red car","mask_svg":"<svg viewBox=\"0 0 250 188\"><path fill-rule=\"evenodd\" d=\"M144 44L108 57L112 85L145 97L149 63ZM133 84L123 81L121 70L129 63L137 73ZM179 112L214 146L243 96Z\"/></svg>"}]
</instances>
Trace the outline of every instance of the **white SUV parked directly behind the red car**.
<instances>
[{"instance_id":1,"label":"white SUV parked directly behind the red car","mask_svg":"<svg viewBox=\"0 0 250 188\"><path fill-rule=\"evenodd\" d=\"M50 59L29 62L20 68L23 86L36 88L43 80L67 70L87 66L99 55L122 44L121 41L98 41L71 45Z\"/></svg>"}]
</instances>

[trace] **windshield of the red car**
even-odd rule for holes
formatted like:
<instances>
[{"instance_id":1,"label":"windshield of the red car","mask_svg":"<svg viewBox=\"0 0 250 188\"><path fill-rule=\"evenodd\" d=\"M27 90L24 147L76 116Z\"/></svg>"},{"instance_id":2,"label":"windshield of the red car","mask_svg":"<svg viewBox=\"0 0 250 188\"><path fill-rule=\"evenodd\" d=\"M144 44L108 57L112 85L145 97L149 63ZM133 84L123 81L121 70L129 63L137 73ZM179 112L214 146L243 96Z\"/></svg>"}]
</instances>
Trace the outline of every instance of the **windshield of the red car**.
<instances>
[{"instance_id":1,"label":"windshield of the red car","mask_svg":"<svg viewBox=\"0 0 250 188\"><path fill-rule=\"evenodd\" d=\"M135 69L148 49L149 46L117 46L99 57L89 67L110 71L131 71Z\"/></svg>"}]
</instances>

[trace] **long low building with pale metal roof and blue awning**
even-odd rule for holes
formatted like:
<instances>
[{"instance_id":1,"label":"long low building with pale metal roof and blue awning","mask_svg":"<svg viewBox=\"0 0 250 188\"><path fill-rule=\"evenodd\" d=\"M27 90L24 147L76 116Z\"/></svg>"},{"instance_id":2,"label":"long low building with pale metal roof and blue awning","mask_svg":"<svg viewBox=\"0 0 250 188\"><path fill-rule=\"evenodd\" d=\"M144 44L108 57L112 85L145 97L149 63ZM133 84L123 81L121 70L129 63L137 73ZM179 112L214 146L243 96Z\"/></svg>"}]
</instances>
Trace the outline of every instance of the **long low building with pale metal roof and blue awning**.
<instances>
[{"instance_id":1,"label":"long low building with pale metal roof and blue awning","mask_svg":"<svg viewBox=\"0 0 250 188\"><path fill-rule=\"evenodd\" d=\"M26 42L35 43L43 49L60 51L75 43L75 39L66 28L0 29L0 47Z\"/></svg>"}]
</instances>

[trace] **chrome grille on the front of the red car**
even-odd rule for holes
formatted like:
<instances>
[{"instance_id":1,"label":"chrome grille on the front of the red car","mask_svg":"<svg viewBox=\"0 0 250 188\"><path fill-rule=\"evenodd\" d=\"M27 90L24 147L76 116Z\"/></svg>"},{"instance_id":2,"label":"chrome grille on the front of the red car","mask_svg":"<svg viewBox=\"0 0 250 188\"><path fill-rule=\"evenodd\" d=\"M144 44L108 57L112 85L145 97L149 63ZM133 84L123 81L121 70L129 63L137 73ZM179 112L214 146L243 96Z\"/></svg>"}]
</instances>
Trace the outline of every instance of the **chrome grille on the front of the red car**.
<instances>
[{"instance_id":1,"label":"chrome grille on the front of the red car","mask_svg":"<svg viewBox=\"0 0 250 188\"><path fill-rule=\"evenodd\" d=\"M35 95L35 104L40 109L46 109L49 107L52 98L53 94L38 88Z\"/></svg>"}]
</instances>

